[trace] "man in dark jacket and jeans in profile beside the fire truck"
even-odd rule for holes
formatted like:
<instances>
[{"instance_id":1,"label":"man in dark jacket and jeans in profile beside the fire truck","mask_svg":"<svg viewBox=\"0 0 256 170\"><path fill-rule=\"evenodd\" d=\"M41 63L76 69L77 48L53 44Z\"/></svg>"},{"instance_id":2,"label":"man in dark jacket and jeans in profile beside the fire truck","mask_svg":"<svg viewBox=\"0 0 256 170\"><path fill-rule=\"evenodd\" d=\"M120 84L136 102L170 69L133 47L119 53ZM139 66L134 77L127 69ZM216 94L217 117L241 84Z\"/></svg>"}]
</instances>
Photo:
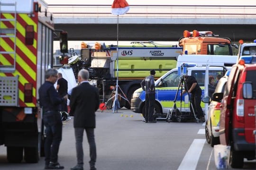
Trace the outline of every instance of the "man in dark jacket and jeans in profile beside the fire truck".
<instances>
[{"instance_id":1,"label":"man in dark jacket and jeans in profile beside the fire truck","mask_svg":"<svg viewBox=\"0 0 256 170\"><path fill-rule=\"evenodd\" d=\"M43 108L43 120L46 127L46 141L45 141L45 169L62 170L64 166L58 163L59 146L62 139L62 120L60 113L60 104L67 100L68 95L59 97L54 88L57 81L56 69L48 69L45 73L46 81L40 86L39 103Z\"/></svg>"}]
</instances>

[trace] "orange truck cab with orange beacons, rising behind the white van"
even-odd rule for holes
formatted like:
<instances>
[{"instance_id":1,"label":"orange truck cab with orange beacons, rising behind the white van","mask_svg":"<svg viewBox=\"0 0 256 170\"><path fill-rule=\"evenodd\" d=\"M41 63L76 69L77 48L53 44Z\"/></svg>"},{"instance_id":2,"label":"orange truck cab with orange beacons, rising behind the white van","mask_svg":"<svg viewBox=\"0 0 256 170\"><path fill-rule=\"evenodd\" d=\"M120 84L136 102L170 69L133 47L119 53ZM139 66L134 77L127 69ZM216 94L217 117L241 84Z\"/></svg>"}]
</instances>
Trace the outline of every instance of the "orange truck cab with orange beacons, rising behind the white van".
<instances>
[{"instance_id":1,"label":"orange truck cab with orange beacons, rising behind the white van","mask_svg":"<svg viewBox=\"0 0 256 170\"><path fill-rule=\"evenodd\" d=\"M205 54L205 55L234 55L229 38L221 38L211 31L189 32L185 30L183 37L179 40L179 46L183 47L183 54Z\"/></svg>"}]
</instances>

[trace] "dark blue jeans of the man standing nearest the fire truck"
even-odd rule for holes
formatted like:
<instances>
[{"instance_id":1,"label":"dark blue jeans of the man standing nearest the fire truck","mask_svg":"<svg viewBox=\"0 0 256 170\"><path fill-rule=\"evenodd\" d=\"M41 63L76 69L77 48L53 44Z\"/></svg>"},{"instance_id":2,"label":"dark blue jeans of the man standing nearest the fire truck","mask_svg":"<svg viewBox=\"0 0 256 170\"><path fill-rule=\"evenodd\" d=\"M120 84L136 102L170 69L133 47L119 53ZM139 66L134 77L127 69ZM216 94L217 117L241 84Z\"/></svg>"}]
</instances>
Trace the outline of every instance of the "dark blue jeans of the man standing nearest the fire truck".
<instances>
[{"instance_id":1,"label":"dark blue jeans of the man standing nearest the fire truck","mask_svg":"<svg viewBox=\"0 0 256 170\"><path fill-rule=\"evenodd\" d=\"M43 115L44 124L46 127L45 141L45 161L58 161L58 152L60 142L62 140L62 120L59 111L46 111Z\"/></svg>"}]
</instances>

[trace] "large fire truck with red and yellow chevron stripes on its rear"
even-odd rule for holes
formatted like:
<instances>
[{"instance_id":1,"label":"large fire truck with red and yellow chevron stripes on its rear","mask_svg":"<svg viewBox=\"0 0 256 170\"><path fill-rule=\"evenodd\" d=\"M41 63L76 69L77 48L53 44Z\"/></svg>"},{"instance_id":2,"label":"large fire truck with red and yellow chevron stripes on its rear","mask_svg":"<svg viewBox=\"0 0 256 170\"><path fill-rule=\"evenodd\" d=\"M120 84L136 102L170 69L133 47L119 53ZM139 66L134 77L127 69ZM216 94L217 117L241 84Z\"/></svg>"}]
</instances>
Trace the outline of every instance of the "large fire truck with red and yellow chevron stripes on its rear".
<instances>
[{"instance_id":1,"label":"large fire truck with red and yellow chevron stripes on its rear","mask_svg":"<svg viewBox=\"0 0 256 170\"><path fill-rule=\"evenodd\" d=\"M53 67L54 36L45 1L0 1L0 145L9 162L36 163L43 151L37 90Z\"/></svg>"}]
</instances>

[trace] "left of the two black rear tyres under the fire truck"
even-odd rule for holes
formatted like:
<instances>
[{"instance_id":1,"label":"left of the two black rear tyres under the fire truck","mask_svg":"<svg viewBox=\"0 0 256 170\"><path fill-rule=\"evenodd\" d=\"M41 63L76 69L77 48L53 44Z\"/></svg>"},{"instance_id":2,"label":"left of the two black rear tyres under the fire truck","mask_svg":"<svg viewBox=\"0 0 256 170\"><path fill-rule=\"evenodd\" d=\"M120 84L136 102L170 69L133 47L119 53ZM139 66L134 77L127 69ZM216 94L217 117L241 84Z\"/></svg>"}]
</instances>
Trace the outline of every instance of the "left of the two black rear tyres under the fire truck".
<instances>
[{"instance_id":1,"label":"left of the two black rear tyres under the fire truck","mask_svg":"<svg viewBox=\"0 0 256 170\"><path fill-rule=\"evenodd\" d=\"M7 160L10 163L20 163L23 159L23 147L7 146Z\"/></svg>"}]
</instances>

